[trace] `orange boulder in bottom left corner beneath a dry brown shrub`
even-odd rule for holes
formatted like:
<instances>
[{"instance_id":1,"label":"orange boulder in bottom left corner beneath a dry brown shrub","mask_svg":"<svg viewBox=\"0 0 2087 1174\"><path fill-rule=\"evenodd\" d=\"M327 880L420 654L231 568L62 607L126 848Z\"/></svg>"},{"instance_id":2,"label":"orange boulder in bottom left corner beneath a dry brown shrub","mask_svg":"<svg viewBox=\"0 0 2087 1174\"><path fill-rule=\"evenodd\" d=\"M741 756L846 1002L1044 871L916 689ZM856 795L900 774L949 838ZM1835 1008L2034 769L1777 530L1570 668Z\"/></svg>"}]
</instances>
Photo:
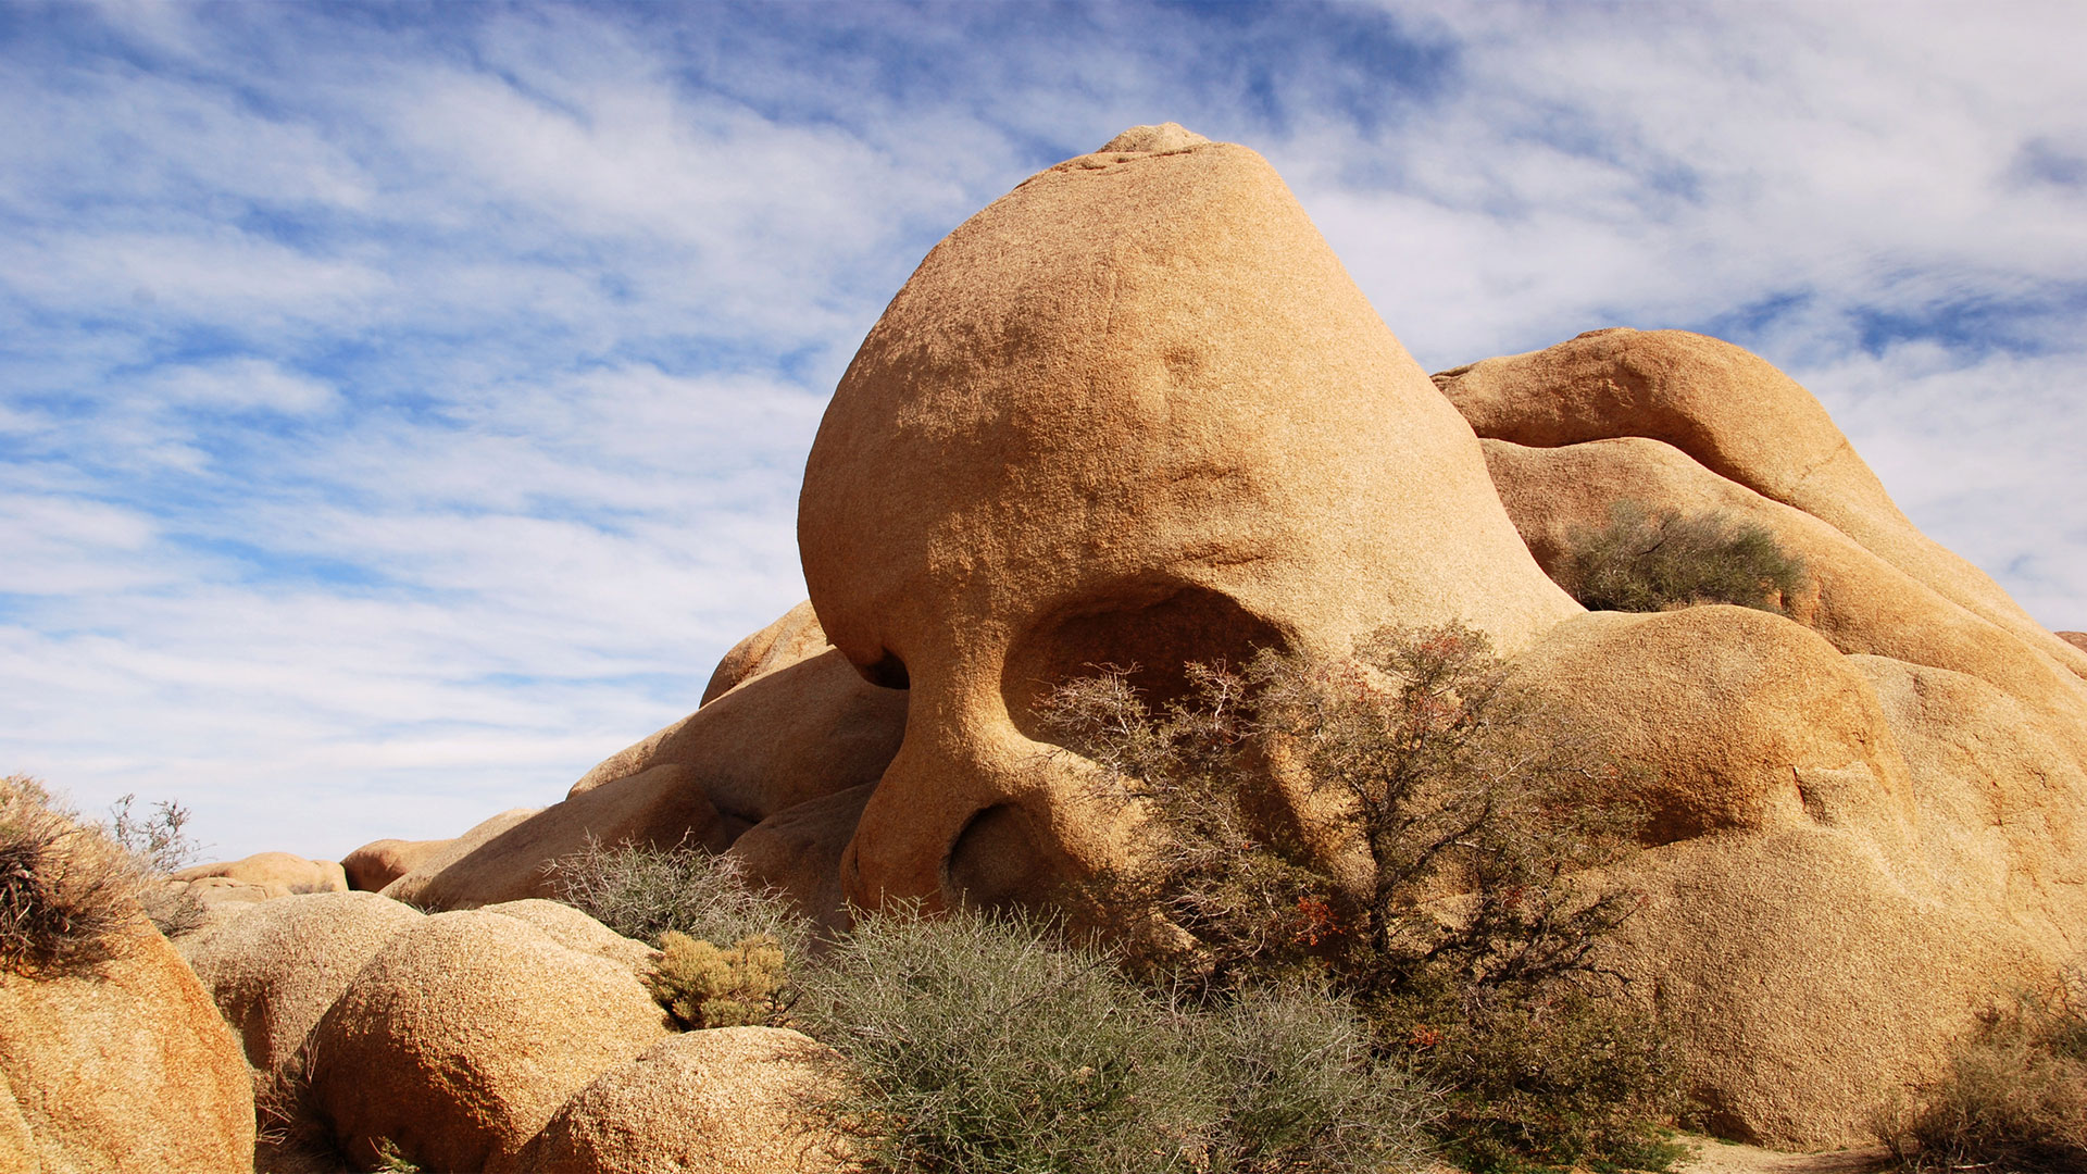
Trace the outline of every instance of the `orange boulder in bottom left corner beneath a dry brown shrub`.
<instances>
[{"instance_id":1,"label":"orange boulder in bottom left corner beneath a dry brown shrub","mask_svg":"<svg viewBox=\"0 0 2087 1174\"><path fill-rule=\"evenodd\" d=\"M0 1105L0 1159L23 1130L35 1153L8 1170L253 1170L255 1097L240 1044L142 917L94 971L0 971L0 1088L13 1090L13 1113Z\"/></svg>"}]
</instances>

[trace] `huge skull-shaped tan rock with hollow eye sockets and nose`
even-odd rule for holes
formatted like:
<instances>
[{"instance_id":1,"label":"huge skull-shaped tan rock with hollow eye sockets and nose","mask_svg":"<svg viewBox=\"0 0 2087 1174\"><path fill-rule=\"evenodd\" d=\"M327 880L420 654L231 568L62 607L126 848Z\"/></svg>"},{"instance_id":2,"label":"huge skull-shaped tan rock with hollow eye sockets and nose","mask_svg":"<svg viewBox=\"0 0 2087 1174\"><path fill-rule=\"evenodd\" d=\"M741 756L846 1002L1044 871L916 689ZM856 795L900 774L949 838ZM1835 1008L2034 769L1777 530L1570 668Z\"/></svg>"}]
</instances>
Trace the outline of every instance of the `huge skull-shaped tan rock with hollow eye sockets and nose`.
<instances>
[{"instance_id":1,"label":"huge skull-shaped tan rock with hollow eye sockets and nose","mask_svg":"<svg viewBox=\"0 0 2087 1174\"><path fill-rule=\"evenodd\" d=\"M1096 664L1348 652L1578 614L1478 439L1256 152L1135 127L937 244L820 424L799 549L826 637L910 685L849 900L1077 882L1117 850L1031 706Z\"/></svg>"}]
</instances>

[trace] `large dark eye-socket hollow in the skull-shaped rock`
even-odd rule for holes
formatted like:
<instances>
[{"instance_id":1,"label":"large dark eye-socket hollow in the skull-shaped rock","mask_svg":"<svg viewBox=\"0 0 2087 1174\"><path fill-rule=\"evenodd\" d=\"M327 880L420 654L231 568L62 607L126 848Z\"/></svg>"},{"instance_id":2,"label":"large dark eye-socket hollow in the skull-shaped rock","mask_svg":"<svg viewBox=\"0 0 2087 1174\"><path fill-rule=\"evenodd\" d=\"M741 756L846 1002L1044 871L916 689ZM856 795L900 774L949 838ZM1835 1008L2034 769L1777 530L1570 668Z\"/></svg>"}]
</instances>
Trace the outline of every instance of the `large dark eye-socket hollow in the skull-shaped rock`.
<instances>
[{"instance_id":1,"label":"large dark eye-socket hollow in the skull-shaped rock","mask_svg":"<svg viewBox=\"0 0 2087 1174\"><path fill-rule=\"evenodd\" d=\"M1016 729L1050 742L1035 706L1050 691L1100 673L1137 666L1131 685L1152 708L1185 698L1192 660L1244 666L1254 650L1288 648L1275 625L1208 587L1127 585L1079 612L1046 620L1008 650L1002 700Z\"/></svg>"}]
</instances>

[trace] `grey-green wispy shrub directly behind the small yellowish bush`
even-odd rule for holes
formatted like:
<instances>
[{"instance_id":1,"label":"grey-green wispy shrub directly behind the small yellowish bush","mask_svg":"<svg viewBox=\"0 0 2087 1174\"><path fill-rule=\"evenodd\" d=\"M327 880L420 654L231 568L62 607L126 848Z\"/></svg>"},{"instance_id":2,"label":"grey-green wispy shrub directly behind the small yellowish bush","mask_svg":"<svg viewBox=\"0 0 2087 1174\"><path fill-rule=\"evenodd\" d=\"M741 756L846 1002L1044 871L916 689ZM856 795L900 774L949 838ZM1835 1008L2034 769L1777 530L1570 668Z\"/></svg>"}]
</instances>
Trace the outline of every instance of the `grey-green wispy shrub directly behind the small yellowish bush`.
<instances>
[{"instance_id":1,"label":"grey-green wispy shrub directly behind the small yellowish bush","mask_svg":"<svg viewBox=\"0 0 2087 1174\"><path fill-rule=\"evenodd\" d=\"M787 898L747 877L739 856L687 842L653 848L589 840L551 863L551 879L566 905L655 946L668 932L703 942L770 938L789 957L803 957L816 936Z\"/></svg>"}]
</instances>

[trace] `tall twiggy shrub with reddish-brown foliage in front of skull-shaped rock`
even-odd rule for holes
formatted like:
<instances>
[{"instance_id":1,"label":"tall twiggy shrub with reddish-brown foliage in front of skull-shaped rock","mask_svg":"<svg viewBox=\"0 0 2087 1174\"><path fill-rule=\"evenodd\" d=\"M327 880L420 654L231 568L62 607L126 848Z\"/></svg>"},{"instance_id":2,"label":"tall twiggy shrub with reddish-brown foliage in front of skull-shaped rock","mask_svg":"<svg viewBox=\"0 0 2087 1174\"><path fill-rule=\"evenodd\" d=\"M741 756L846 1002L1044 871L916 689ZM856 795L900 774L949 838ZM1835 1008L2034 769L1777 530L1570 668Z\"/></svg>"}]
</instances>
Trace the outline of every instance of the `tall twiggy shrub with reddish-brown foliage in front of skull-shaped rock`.
<instances>
[{"instance_id":1,"label":"tall twiggy shrub with reddish-brown foliage in front of skull-shaped rock","mask_svg":"<svg viewBox=\"0 0 2087 1174\"><path fill-rule=\"evenodd\" d=\"M1156 909L1183 938L1140 950L1206 999L1323 978L1382 1057L1446 1090L1438 1136L1471 1168L1678 1157L1655 1145L1676 1057L1599 965L1640 896L1588 879L1645 813L1482 633L1386 629L1348 660L1263 650L1188 681L1154 712L1104 668L1039 714L1142 815L1102 902Z\"/></svg>"}]
</instances>

